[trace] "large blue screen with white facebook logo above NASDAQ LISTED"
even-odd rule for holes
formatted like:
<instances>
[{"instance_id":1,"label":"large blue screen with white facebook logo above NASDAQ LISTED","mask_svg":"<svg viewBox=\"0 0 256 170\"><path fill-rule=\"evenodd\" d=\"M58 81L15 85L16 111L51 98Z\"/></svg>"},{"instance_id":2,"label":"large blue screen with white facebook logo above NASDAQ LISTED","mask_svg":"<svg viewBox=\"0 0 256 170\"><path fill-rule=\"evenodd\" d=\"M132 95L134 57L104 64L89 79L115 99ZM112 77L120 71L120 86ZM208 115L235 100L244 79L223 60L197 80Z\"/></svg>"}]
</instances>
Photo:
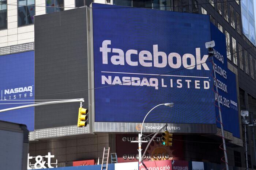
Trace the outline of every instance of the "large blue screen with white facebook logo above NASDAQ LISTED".
<instances>
[{"instance_id":1,"label":"large blue screen with white facebook logo above NASDAQ LISTED","mask_svg":"<svg viewBox=\"0 0 256 170\"><path fill-rule=\"evenodd\" d=\"M209 16L95 3L92 12L95 122L141 123L173 102L145 122L216 124Z\"/></svg>"}]
</instances>

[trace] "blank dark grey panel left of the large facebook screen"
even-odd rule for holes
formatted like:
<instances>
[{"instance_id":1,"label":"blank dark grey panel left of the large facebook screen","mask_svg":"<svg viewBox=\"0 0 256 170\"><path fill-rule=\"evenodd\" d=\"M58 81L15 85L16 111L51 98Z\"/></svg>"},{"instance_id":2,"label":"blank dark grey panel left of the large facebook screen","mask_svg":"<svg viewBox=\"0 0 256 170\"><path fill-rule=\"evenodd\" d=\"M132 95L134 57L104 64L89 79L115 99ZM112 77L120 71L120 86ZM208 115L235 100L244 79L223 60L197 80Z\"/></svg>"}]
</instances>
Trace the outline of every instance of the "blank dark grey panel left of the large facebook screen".
<instances>
[{"instance_id":1,"label":"blank dark grey panel left of the large facebook screen","mask_svg":"<svg viewBox=\"0 0 256 170\"><path fill-rule=\"evenodd\" d=\"M35 100L84 98L88 108L86 9L35 16ZM35 107L35 129L76 125L80 103Z\"/></svg>"}]
</instances>

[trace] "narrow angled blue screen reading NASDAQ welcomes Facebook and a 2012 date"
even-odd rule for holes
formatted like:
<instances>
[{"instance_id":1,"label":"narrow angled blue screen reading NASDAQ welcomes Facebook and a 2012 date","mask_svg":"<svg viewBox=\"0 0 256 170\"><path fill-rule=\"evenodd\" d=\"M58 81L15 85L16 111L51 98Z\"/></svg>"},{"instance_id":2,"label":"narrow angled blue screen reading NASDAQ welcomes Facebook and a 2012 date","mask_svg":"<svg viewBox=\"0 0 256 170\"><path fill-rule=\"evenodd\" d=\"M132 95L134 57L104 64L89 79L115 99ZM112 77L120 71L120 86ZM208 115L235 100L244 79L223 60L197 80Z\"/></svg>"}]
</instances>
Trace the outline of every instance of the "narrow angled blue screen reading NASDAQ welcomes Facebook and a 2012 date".
<instances>
[{"instance_id":1,"label":"narrow angled blue screen reading NASDAQ welcomes Facebook and a 2012 date","mask_svg":"<svg viewBox=\"0 0 256 170\"><path fill-rule=\"evenodd\" d=\"M211 36L215 42L214 68L217 81L214 84L218 88L219 103L224 130L232 132L233 136L240 138L239 115L237 107L236 75L227 68L226 36L211 23ZM214 73L212 73L214 76ZM215 88L216 90L216 88ZM217 100L217 93L215 93ZM216 102L218 105L218 102ZM219 116L219 108L216 107L216 116ZM220 121L219 117L217 119ZM221 128L221 124L217 123Z\"/></svg>"}]
</instances>

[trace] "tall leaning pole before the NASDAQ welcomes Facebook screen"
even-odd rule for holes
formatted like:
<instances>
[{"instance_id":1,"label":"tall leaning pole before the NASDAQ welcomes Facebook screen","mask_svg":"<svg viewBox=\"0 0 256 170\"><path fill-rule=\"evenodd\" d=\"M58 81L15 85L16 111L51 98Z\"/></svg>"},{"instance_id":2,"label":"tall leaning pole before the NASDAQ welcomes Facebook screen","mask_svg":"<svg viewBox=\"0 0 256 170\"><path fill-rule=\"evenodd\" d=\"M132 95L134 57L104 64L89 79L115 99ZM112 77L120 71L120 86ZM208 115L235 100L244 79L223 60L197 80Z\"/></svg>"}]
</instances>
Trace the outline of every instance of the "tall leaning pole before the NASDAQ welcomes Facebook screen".
<instances>
[{"instance_id":1,"label":"tall leaning pole before the NASDAQ welcomes Facebook screen","mask_svg":"<svg viewBox=\"0 0 256 170\"><path fill-rule=\"evenodd\" d=\"M212 56L212 63L213 63L212 67L213 67L213 70L214 70L214 78L216 79L213 56ZM214 79L214 81L215 81L215 79ZM215 82L215 83L216 83L216 92L219 94L218 87L217 87L217 82ZM227 160L226 142L225 142L225 137L224 137L224 129L223 129L223 124L222 124L222 116L221 116L221 105L219 104L219 95L217 95L217 98L218 98L218 107L219 107L219 119L221 121L221 133L222 133L222 142L223 142L224 156L225 156L225 162L226 162L226 169L229 170L229 164L228 164L228 160Z\"/></svg>"}]
</instances>

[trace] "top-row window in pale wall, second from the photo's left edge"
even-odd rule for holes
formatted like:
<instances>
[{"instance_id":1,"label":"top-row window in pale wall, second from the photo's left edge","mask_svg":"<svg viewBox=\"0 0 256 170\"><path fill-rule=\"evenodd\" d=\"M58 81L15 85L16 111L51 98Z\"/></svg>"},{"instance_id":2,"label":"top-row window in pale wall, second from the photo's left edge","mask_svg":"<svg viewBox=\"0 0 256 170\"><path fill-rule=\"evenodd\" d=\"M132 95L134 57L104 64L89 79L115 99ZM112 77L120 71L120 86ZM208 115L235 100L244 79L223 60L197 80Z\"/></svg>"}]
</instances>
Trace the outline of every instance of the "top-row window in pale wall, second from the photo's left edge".
<instances>
[{"instance_id":1,"label":"top-row window in pale wall, second from the photo's left edge","mask_svg":"<svg viewBox=\"0 0 256 170\"><path fill-rule=\"evenodd\" d=\"M34 23L35 0L18 0L18 26Z\"/></svg>"}]
</instances>

